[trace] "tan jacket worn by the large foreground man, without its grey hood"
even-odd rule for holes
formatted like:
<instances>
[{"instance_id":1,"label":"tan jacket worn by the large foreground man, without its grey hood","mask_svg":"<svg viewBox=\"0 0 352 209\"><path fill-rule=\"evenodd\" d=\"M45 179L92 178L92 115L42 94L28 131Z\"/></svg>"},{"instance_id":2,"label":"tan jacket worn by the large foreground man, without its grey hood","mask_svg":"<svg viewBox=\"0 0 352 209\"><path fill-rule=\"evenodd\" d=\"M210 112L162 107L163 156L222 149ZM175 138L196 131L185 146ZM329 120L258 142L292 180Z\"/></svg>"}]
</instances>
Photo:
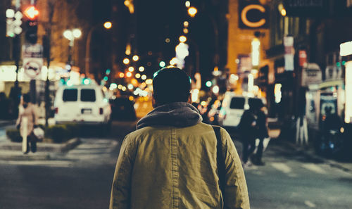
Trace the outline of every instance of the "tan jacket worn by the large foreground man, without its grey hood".
<instances>
[{"instance_id":1,"label":"tan jacket worn by the large foreground man, without its grey hood","mask_svg":"<svg viewBox=\"0 0 352 209\"><path fill-rule=\"evenodd\" d=\"M215 133L198 122L187 127L146 126L128 134L115 169L110 208L250 208L238 153L225 129L220 133L227 171L225 201Z\"/></svg>"}]
</instances>

